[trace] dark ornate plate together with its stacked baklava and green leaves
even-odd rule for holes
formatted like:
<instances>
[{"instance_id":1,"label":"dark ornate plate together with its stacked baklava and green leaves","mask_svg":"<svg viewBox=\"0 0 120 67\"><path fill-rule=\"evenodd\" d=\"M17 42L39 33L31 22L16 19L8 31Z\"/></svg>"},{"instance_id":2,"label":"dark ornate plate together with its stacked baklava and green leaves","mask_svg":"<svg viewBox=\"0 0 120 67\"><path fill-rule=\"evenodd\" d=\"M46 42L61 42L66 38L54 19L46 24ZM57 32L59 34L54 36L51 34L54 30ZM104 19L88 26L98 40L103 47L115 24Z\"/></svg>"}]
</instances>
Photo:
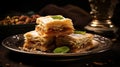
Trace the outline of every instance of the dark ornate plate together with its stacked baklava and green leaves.
<instances>
[{"instance_id":1,"label":"dark ornate plate together with its stacked baklava and green leaves","mask_svg":"<svg viewBox=\"0 0 120 67\"><path fill-rule=\"evenodd\" d=\"M62 15L41 16L34 30L11 35L2 41L9 50L49 57L80 57L107 51L112 41L106 37L75 30L72 20Z\"/></svg>"}]
</instances>

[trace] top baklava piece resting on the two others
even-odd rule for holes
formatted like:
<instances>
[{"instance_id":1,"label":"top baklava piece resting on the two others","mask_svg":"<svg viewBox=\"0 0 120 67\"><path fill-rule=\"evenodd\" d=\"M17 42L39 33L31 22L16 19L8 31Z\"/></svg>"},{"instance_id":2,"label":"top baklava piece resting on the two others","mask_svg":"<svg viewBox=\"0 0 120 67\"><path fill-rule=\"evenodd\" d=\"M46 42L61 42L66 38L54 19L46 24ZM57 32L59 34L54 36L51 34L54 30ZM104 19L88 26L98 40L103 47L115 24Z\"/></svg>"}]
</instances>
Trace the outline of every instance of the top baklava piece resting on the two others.
<instances>
[{"instance_id":1,"label":"top baklava piece resting on the two others","mask_svg":"<svg viewBox=\"0 0 120 67\"><path fill-rule=\"evenodd\" d=\"M69 35L74 32L72 20L61 15L37 18L35 30L45 36Z\"/></svg>"}]
</instances>

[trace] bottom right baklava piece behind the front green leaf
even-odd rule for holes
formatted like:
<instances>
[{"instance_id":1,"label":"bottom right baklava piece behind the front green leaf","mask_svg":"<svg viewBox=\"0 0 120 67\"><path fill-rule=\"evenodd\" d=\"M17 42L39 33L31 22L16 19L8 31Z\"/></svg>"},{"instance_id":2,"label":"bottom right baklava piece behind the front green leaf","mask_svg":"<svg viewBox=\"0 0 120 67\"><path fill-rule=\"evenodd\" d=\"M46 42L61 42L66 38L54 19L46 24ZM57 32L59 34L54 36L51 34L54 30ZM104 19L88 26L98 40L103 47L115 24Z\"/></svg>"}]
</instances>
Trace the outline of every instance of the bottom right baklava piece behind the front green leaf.
<instances>
[{"instance_id":1,"label":"bottom right baklava piece behind the front green leaf","mask_svg":"<svg viewBox=\"0 0 120 67\"><path fill-rule=\"evenodd\" d=\"M93 35L86 34L70 34L67 36L60 36L56 38L56 46L68 46L72 53L85 51L93 47Z\"/></svg>"}]
</instances>

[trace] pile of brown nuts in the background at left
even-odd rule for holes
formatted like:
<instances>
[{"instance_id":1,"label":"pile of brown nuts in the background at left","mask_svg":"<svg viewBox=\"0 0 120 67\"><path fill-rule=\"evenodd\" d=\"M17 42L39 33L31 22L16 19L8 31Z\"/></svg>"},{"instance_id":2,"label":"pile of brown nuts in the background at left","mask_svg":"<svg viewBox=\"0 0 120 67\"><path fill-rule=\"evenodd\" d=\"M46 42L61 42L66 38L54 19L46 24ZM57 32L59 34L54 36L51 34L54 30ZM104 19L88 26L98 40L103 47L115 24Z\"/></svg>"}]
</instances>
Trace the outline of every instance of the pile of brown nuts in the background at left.
<instances>
[{"instance_id":1,"label":"pile of brown nuts in the background at left","mask_svg":"<svg viewBox=\"0 0 120 67\"><path fill-rule=\"evenodd\" d=\"M35 23L36 18L40 17L39 14L33 14L31 16L20 15L20 16L6 16L0 21L0 25L18 25L18 24L29 24Z\"/></svg>"}]
</instances>

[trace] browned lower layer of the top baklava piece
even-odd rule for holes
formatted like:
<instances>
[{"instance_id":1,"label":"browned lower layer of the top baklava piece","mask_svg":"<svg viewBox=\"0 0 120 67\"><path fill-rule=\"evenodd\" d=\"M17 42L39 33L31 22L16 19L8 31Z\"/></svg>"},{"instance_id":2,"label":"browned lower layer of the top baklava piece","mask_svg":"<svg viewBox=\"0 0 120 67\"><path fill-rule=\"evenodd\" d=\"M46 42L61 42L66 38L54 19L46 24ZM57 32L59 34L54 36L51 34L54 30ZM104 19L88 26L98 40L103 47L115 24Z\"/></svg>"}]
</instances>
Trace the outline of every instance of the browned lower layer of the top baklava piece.
<instances>
[{"instance_id":1,"label":"browned lower layer of the top baklava piece","mask_svg":"<svg viewBox=\"0 0 120 67\"><path fill-rule=\"evenodd\" d=\"M58 28L61 29L61 28ZM61 35L69 35L71 33L74 33L74 30L71 28L63 28L63 30L55 30L53 28L49 28L48 31L45 31L40 26L36 26L35 30L43 36L61 36Z\"/></svg>"}]
</instances>

